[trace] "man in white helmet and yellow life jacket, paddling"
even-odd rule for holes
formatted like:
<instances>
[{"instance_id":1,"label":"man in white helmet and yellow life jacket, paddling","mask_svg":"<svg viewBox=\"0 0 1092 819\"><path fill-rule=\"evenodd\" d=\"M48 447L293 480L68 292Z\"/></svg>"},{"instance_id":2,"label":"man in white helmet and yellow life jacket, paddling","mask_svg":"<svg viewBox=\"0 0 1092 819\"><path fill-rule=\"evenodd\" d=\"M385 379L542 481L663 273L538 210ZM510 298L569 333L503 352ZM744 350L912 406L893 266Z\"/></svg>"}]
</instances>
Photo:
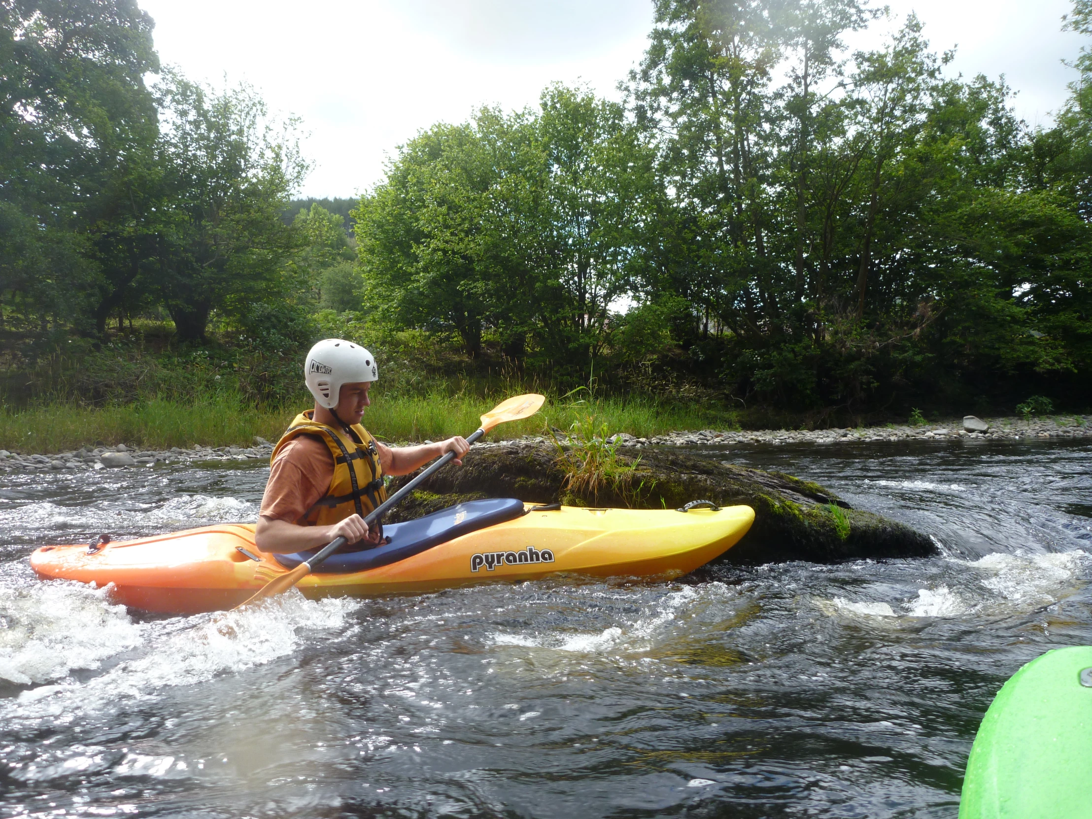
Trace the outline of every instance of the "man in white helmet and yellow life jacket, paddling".
<instances>
[{"instance_id":1,"label":"man in white helmet and yellow life jacket, paddling","mask_svg":"<svg viewBox=\"0 0 1092 819\"><path fill-rule=\"evenodd\" d=\"M254 543L263 551L293 553L336 537L375 545L365 515L387 499L383 475L405 475L454 452L461 464L470 444L455 436L439 443L392 449L360 426L379 376L376 359L358 344L320 341L307 354L304 380L314 408L300 413L273 449Z\"/></svg>"}]
</instances>

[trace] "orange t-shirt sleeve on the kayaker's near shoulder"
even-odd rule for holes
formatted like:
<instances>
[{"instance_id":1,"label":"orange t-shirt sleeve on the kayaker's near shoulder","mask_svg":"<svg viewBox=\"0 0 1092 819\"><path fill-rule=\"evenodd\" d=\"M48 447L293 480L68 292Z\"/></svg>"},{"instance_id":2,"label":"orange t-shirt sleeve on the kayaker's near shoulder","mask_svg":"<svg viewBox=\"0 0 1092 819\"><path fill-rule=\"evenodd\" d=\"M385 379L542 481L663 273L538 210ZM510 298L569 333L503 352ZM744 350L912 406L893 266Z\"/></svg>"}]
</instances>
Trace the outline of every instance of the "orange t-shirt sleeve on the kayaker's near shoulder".
<instances>
[{"instance_id":1,"label":"orange t-shirt sleeve on the kayaker's near shoulder","mask_svg":"<svg viewBox=\"0 0 1092 819\"><path fill-rule=\"evenodd\" d=\"M258 514L305 525L304 517L327 494L333 477L334 459L325 441L297 436L273 459Z\"/></svg>"}]
</instances>

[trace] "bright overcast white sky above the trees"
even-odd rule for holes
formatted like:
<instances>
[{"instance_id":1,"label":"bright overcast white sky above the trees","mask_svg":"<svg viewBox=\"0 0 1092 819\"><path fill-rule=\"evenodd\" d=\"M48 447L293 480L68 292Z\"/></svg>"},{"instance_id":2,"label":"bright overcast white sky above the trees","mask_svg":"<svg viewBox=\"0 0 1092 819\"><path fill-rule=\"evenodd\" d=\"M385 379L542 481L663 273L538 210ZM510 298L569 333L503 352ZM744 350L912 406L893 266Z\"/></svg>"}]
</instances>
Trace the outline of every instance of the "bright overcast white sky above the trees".
<instances>
[{"instance_id":1,"label":"bright overcast white sky above the trees","mask_svg":"<svg viewBox=\"0 0 1092 819\"><path fill-rule=\"evenodd\" d=\"M376 183L395 147L476 106L533 105L553 82L600 94L641 58L650 0L140 0L165 63L192 79L247 80L270 107L302 118L316 168L302 195L348 197ZM879 5L880 3L874 3ZM1060 31L1069 0L889 0L893 21L852 39L877 45L910 11L949 70L1005 74L1017 112L1049 124L1081 38Z\"/></svg>"}]
</instances>

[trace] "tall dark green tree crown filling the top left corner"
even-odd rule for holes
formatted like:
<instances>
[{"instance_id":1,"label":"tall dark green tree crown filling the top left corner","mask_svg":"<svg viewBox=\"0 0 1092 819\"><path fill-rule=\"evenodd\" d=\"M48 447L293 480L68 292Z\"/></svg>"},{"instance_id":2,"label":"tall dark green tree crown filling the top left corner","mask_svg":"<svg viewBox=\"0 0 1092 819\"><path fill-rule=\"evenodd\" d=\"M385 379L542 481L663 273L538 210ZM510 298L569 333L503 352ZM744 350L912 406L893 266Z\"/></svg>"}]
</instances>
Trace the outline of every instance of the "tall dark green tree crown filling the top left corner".
<instances>
[{"instance_id":1,"label":"tall dark green tree crown filling the top left corner","mask_svg":"<svg viewBox=\"0 0 1092 819\"><path fill-rule=\"evenodd\" d=\"M99 244L142 217L124 200L156 138L152 26L132 0L0 2L0 302L26 325L81 325L128 285Z\"/></svg>"}]
</instances>

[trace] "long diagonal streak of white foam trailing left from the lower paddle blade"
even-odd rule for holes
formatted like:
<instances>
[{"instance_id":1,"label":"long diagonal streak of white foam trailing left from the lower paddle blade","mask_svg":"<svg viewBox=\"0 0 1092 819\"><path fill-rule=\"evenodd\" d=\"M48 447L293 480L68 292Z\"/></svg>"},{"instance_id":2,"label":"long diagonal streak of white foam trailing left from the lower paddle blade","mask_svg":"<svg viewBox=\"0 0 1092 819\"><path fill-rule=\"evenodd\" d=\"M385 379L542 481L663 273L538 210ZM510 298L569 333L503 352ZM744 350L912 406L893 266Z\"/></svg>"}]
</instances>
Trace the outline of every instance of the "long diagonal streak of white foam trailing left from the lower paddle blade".
<instances>
[{"instance_id":1,"label":"long diagonal streak of white foam trailing left from the lower paddle blade","mask_svg":"<svg viewBox=\"0 0 1092 819\"><path fill-rule=\"evenodd\" d=\"M147 698L157 689L203 682L289 654L299 629L337 629L359 604L351 598L309 601L289 592L239 612L147 624L142 655L124 660L86 682L41 686L22 692L0 716L71 716L96 703ZM157 628L153 628L157 627Z\"/></svg>"}]
</instances>

